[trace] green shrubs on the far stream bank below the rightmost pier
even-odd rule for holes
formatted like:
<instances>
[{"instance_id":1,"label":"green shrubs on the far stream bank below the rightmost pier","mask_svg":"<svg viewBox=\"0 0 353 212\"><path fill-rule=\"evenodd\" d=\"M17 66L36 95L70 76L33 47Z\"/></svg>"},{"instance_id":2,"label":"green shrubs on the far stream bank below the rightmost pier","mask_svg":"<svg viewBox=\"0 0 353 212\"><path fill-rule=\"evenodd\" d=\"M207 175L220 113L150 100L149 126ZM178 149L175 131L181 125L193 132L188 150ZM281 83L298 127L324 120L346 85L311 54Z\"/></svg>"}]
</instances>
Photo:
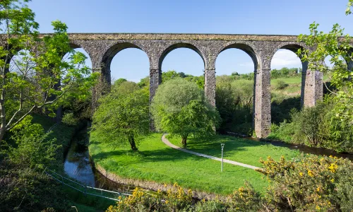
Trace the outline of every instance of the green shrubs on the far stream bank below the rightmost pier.
<instances>
[{"instance_id":1,"label":"green shrubs on the far stream bank below the rightmost pier","mask_svg":"<svg viewBox=\"0 0 353 212\"><path fill-rule=\"evenodd\" d=\"M289 121L272 126L269 138L307 146L330 148L338 152L353 152L353 123L335 114L330 97L315 107L298 112L291 110Z\"/></svg>"}]
</instances>

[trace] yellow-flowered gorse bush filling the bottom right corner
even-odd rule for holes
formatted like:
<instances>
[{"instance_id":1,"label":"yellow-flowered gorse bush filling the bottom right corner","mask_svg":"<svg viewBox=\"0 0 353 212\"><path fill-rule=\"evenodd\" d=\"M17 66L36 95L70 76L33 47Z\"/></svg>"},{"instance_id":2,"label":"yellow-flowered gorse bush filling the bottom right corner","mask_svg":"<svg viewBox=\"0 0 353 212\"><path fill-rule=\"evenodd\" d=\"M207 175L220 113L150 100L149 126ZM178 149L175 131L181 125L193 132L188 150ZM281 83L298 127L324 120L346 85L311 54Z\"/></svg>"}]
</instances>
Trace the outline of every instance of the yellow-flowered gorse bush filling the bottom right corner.
<instances>
[{"instance_id":1,"label":"yellow-flowered gorse bush filling the bottom right corner","mask_svg":"<svg viewBox=\"0 0 353 212\"><path fill-rule=\"evenodd\" d=\"M294 160L261 160L258 170L271 182L270 211L349 211L353 206L353 163L348 159L301 155Z\"/></svg>"}]
</instances>

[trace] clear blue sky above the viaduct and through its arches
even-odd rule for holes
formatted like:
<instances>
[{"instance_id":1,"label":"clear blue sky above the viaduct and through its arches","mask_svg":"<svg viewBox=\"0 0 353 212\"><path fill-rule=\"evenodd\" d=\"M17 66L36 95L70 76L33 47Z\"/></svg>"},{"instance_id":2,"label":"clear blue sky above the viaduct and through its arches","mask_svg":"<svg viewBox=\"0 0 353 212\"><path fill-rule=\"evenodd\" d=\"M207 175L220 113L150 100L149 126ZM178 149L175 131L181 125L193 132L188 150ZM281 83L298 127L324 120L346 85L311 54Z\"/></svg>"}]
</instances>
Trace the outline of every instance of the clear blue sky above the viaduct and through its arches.
<instances>
[{"instance_id":1,"label":"clear blue sky above the viaduct and through its arches","mask_svg":"<svg viewBox=\"0 0 353 212\"><path fill-rule=\"evenodd\" d=\"M320 23L328 32L339 23L353 34L353 16L345 16L347 0L297 1L119 1L32 0L41 33L52 32L50 22L61 20L69 33L225 33L299 35L309 24ZM88 61L88 64L90 62ZM275 54L273 69L301 67L292 52ZM125 49L112 61L112 77L139 81L148 76L149 63L139 49ZM162 71L175 70L201 76L203 61L191 49L175 49L164 59ZM216 61L217 75L253 71L253 61L239 49L227 49Z\"/></svg>"}]
</instances>

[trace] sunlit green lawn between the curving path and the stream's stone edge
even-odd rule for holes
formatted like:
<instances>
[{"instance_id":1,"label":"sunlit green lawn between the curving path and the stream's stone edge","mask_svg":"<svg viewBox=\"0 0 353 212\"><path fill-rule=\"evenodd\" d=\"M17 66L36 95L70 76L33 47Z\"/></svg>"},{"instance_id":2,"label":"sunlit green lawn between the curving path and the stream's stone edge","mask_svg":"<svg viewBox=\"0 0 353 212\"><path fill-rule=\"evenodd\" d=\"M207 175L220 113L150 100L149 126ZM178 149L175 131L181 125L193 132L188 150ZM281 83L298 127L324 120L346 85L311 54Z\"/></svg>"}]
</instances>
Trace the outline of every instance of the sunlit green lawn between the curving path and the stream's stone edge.
<instances>
[{"instance_id":1,"label":"sunlit green lawn between the curving path and the stream's stone edge","mask_svg":"<svg viewBox=\"0 0 353 212\"><path fill-rule=\"evenodd\" d=\"M161 141L162 134L152 134L138 144L139 152L128 146L117 147L100 143L99 135L90 136L90 155L98 165L129 179L144 179L160 184L214 194L230 194L244 185L244 180L264 192L268 182L263 175L246 167L225 163L220 172L220 162L174 150Z\"/></svg>"}]
</instances>

